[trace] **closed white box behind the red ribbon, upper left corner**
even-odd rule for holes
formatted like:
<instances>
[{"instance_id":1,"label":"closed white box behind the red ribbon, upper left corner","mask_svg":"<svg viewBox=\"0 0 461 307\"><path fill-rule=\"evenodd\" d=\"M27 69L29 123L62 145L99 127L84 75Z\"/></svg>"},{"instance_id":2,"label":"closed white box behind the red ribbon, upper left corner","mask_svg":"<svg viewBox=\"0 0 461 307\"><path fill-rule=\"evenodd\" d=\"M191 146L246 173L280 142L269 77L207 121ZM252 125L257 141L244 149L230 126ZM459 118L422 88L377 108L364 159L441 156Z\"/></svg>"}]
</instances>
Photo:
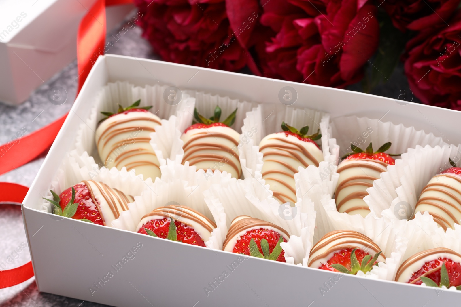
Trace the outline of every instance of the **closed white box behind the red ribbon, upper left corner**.
<instances>
[{"instance_id":1,"label":"closed white box behind the red ribbon, upper left corner","mask_svg":"<svg viewBox=\"0 0 461 307\"><path fill-rule=\"evenodd\" d=\"M0 0L0 101L20 104L77 58L77 29L95 0ZM132 5L106 10L112 29Z\"/></svg>"}]
</instances>

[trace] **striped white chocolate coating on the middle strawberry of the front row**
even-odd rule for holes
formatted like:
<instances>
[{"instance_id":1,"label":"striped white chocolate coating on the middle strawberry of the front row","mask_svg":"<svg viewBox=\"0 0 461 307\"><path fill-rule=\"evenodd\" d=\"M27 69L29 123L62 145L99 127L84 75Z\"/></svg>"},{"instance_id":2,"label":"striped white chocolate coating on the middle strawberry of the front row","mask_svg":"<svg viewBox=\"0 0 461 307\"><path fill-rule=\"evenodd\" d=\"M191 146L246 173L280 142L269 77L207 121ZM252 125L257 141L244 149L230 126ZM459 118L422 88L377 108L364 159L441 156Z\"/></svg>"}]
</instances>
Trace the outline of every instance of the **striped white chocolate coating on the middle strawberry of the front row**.
<instances>
[{"instance_id":1,"label":"striped white chocolate coating on the middle strawberry of the front row","mask_svg":"<svg viewBox=\"0 0 461 307\"><path fill-rule=\"evenodd\" d=\"M264 220L252 218L248 215L239 215L231 222L229 232L223 243L223 250L232 252L238 240L248 231L253 229L266 228L278 232L285 240L288 241L290 235L282 228Z\"/></svg>"}]
</instances>

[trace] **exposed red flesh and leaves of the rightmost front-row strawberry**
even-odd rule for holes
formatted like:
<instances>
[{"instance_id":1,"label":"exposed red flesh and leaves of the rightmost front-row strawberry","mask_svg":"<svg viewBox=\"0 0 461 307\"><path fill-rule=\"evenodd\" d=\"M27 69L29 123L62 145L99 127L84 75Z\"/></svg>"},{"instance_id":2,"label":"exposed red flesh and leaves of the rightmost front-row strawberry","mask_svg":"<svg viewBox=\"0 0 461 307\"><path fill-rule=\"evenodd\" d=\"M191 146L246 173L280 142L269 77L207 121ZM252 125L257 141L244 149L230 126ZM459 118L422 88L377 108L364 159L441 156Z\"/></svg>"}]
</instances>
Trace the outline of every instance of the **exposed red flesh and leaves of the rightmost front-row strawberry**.
<instances>
[{"instance_id":1,"label":"exposed red flesh and leaves of the rightmost front-row strawberry","mask_svg":"<svg viewBox=\"0 0 461 307\"><path fill-rule=\"evenodd\" d=\"M430 287L455 286L461 290L461 264L442 257L428 261L413 273L407 283L422 284L423 282Z\"/></svg>"}]
</instances>

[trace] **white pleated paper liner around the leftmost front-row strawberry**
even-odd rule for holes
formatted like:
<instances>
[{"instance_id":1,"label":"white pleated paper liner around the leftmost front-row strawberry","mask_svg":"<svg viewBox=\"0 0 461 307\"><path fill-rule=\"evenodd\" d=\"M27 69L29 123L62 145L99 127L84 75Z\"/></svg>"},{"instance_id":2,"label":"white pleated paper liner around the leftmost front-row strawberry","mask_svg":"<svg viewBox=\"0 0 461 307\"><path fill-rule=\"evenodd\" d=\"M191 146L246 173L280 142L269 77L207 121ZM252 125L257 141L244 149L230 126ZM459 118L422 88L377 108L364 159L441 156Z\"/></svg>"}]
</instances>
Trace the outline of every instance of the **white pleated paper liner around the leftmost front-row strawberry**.
<instances>
[{"instance_id":1,"label":"white pleated paper liner around the leftmost front-row strawberry","mask_svg":"<svg viewBox=\"0 0 461 307\"><path fill-rule=\"evenodd\" d=\"M127 172L126 168L108 169L99 168L92 156L87 153L78 155L77 151L71 151L63 159L54 180L50 184L50 190L58 195L65 189L76 185L83 180L95 180L103 182L111 188L124 192L126 195L141 195L142 191L153 185L152 180L142 179L142 175L136 175L134 171ZM45 198L53 199L51 192L47 192ZM52 204L43 200L42 210L52 212ZM107 225L110 226L110 225Z\"/></svg>"}]
</instances>

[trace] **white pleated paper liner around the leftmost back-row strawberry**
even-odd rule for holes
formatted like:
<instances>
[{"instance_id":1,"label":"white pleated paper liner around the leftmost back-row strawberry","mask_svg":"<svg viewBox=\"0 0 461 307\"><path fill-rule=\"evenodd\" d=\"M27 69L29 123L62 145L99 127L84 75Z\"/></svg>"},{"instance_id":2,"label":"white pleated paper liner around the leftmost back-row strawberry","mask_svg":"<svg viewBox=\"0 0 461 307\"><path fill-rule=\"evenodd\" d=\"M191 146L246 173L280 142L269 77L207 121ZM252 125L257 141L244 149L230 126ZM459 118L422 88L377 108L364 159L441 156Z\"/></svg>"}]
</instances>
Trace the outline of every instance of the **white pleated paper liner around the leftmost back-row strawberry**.
<instances>
[{"instance_id":1,"label":"white pleated paper liner around the leftmost back-row strawberry","mask_svg":"<svg viewBox=\"0 0 461 307\"><path fill-rule=\"evenodd\" d=\"M108 83L95 98L95 106L90 112L87 120L80 125L77 131L75 149L79 155L88 152L95 157L95 162L102 165L95 144L95 131L98 122L104 117L100 112L117 112L117 104L124 107L129 106L138 99L141 99L140 107L152 105L149 111L162 119L162 126L157 129L151 140L154 151L158 155L161 165L165 165L165 159L170 156L172 143L177 138L183 126L181 123L192 121L195 98L184 94L181 101L176 105L165 103L163 94L167 85L135 87L128 82L118 81ZM161 136L159 133L161 132Z\"/></svg>"}]
</instances>

